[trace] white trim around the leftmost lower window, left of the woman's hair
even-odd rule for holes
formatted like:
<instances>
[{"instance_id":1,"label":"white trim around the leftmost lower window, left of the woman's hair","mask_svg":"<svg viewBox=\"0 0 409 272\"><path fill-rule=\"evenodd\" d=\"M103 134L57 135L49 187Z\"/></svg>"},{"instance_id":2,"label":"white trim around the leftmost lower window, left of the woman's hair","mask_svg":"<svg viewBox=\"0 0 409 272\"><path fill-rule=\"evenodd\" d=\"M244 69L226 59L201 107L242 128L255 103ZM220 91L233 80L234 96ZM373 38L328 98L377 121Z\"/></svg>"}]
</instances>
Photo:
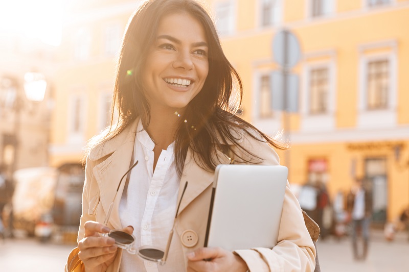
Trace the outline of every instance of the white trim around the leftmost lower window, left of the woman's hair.
<instances>
[{"instance_id":1,"label":"white trim around the leftmost lower window, left of the woman's hair","mask_svg":"<svg viewBox=\"0 0 409 272\"><path fill-rule=\"evenodd\" d=\"M74 101L80 98L81 99L81 109L80 109L80 129L78 132L73 131L73 126L74 126ZM81 93L74 93L69 96L68 100L69 108L68 108L68 114L67 114L67 131L68 131L68 136L67 136L67 142L70 144L73 143L82 143L85 140L85 128L86 128L86 107L87 107L87 101L86 101L86 96L85 94Z\"/></svg>"}]
</instances>

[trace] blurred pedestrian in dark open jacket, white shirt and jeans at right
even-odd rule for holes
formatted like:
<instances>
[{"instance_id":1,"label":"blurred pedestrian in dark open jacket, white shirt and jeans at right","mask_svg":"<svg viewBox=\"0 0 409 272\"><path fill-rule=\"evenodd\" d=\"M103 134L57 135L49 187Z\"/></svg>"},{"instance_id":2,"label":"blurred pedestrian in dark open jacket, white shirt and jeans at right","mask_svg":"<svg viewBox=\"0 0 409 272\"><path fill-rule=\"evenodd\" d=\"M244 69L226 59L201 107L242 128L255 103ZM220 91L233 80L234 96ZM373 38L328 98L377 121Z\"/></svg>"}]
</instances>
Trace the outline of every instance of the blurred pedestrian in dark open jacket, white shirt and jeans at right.
<instances>
[{"instance_id":1,"label":"blurred pedestrian in dark open jacket, white shirt and jeans at right","mask_svg":"<svg viewBox=\"0 0 409 272\"><path fill-rule=\"evenodd\" d=\"M365 260L368 255L369 226L372 217L372 194L363 184L362 179L356 179L347 196L347 211L352 220L352 249L355 260ZM363 240L362 253L358 251L359 236Z\"/></svg>"}]
</instances>

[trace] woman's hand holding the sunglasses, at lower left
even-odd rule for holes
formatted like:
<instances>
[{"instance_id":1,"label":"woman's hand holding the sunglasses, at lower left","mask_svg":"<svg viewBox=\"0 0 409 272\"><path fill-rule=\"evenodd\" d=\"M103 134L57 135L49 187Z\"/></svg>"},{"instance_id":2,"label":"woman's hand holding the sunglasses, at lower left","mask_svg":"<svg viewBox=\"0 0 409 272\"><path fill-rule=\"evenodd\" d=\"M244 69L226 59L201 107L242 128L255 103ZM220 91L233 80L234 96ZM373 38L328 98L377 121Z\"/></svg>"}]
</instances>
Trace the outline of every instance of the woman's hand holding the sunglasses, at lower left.
<instances>
[{"instance_id":1,"label":"woman's hand holding the sunglasses, at lower left","mask_svg":"<svg viewBox=\"0 0 409 272\"><path fill-rule=\"evenodd\" d=\"M108 233L109 228L98 222L86 221L84 229L85 237L78 242L80 250L78 257L84 263L87 272L105 272L118 252L115 240L100 236L100 233ZM128 226L123 231L132 234L133 228Z\"/></svg>"}]
</instances>

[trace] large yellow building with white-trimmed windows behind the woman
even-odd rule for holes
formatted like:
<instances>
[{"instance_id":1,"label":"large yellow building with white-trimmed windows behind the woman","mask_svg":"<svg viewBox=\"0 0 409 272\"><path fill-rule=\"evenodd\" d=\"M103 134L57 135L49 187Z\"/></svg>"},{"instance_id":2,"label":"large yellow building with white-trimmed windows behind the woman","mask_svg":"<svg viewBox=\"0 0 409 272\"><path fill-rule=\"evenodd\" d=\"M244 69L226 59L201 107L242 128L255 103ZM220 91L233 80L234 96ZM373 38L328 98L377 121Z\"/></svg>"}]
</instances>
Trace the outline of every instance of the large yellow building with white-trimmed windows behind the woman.
<instances>
[{"instance_id":1,"label":"large yellow building with white-trimmed windows behind the woman","mask_svg":"<svg viewBox=\"0 0 409 272\"><path fill-rule=\"evenodd\" d=\"M74 3L64 26L56 81L52 164L77 162L106 125L118 50L140 1ZM225 54L244 86L243 118L274 136L292 184L323 181L331 196L364 177L374 221L409 203L409 18L407 0L209 0ZM271 109L271 43L282 29L301 44L299 110ZM287 122L288 120L288 122ZM288 123L288 125L286 125ZM289 134L287 134L289 133Z\"/></svg>"}]
</instances>

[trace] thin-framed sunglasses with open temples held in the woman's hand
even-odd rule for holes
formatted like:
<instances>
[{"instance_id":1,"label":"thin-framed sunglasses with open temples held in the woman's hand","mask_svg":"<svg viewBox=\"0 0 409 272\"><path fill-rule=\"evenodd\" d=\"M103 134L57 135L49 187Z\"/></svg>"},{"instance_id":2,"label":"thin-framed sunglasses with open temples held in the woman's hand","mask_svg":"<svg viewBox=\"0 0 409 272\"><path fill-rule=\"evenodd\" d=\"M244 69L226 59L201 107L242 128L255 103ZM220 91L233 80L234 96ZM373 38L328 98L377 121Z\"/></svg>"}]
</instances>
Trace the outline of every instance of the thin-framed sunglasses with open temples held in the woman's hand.
<instances>
[{"instance_id":1,"label":"thin-framed sunglasses with open temples held in the woman's hand","mask_svg":"<svg viewBox=\"0 0 409 272\"><path fill-rule=\"evenodd\" d=\"M112 212L112 207L113 203L115 202L115 199L117 197L117 193L119 190L119 187L121 186L122 180L128 175L129 171L132 170L133 167L135 167L138 164L138 161L135 162L122 176L121 180L119 181L117 191L115 193L115 196L113 196L113 200L111 204L109 205L108 213L106 214L106 218L104 221L104 225L107 226L109 217L111 216ZM172 241L173 237L173 229L175 227L175 221L177 217L177 213L179 212L179 207L181 200L183 199L183 195L185 194L186 188L188 187L188 182L185 183L185 187L183 188L183 191L180 195L179 202L177 204L177 209L176 209L176 214L175 218L173 220L173 225L172 229L169 232L169 237L168 237L168 242L166 243L166 248L165 250L159 249L159 248L154 248L150 245L144 245L141 246L138 250L135 250L133 248L133 245L135 243L135 236L132 234L128 234L122 230L111 230L109 233L104 233L103 236L105 237L110 237L115 239L115 244L118 246L118 248L126 250L130 254L137 254L138 256L141 257L142 259L148 260L148 261L153 261L157 262L158 264L164 265L166 263L166 259L168 257L169 253L169 248L170 248L170 243Z\"/></svg>"}]
</instances>

